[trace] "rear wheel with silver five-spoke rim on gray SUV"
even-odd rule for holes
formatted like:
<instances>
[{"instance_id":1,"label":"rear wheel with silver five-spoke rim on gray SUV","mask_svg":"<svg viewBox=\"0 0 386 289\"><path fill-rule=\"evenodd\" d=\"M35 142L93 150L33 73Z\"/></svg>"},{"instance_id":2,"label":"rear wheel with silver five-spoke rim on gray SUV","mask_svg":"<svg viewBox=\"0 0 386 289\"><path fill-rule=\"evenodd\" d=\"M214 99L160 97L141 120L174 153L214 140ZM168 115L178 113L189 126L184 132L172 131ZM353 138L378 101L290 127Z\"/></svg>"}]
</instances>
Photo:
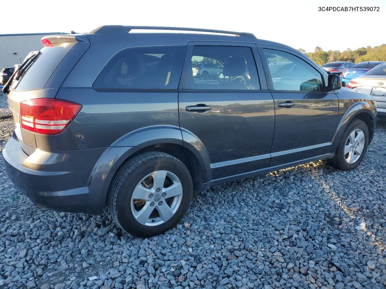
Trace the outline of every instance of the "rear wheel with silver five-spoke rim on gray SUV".
<instances>
[{"instance_id":1,"label":"rear wheel with silver five-spoke rim on gray SUV","mask_svg":"<svg viewBox=\"0 0 386 289\"><path fill-rule=\"evenodd\" d=\"M143 199L134 199L134 192ZM186 166L174 156L147 152L122 165L108 194L108 208L117 225L130 235L147 238L166 232L184 217L193 181Z\"/></svg>"}]
</instances>

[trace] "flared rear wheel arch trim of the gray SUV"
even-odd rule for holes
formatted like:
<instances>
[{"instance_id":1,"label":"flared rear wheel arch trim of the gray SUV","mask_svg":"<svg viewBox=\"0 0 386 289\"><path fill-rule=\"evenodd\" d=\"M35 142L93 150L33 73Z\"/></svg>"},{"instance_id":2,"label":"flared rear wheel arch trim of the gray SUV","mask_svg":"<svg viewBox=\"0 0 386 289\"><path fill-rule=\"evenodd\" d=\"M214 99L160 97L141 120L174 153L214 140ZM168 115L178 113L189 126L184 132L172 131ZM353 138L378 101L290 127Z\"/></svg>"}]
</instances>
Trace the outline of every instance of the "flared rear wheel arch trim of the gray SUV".
<instances>
[{"instance_id":1,"label":"flared rear wheel arch trim of the gray SUV","mask_svg":"<svg viewBox=\"0 0 386 289\"><path fill-rule=\"evenodd\" d=\"M196 147L197 144L200 145ZM206 189L211 180L210 158L201 141L178 127L156 126L133 131L107 148L91 173L89 191L106 204L117 171L133 157L149 151L167 153L179 159L191 174L194 195Z\"/></svg>"}]
</instances>

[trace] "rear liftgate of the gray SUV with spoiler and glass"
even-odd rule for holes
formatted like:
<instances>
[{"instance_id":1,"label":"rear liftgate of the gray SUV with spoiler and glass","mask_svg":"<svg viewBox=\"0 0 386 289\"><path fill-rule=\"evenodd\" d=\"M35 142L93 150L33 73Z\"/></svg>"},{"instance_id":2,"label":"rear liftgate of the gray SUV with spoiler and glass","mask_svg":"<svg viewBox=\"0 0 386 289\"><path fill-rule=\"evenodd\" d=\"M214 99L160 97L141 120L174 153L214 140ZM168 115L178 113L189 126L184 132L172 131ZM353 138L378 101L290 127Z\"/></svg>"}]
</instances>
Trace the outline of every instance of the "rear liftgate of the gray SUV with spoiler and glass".
<instances>
[{"instance_id":1,"label":"rear liftgate of the gray SUV with spoiler and glass","mask_svg":"<svg viewBox=\"0 0 386 289\"><path fill-rule=\"evenodd\" d=\"M21 126L20 103L55 98L64 79L90 46L87 37L79 34L50 36L43 38L42 43L44 47L30 52L3 88L3 92L8 93L15 134L27 155L36 150L37 138L34 132ZM53 144L53 138L47 137L42 147L38 147L49 150L50 143Z\"/></svg>"}]
</instances>

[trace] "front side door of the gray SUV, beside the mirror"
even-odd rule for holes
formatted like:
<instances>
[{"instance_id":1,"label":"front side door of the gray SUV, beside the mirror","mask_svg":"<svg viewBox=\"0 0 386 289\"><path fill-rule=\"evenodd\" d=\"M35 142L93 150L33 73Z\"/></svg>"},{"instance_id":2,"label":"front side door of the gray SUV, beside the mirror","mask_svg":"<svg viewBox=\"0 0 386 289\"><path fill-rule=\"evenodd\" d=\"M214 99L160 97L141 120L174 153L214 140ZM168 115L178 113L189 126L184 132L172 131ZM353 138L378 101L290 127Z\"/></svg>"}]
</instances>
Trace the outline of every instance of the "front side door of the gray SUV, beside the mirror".
<instances>
[{"instance_id":1,"label":"front side door of the gray SUV, beside the mirror","mask_svg":"<svg viewBox=\"0 0 386 289\"><path fill-rule=\"evenodd\" d=\"M331 153L339 101L327 91L327 77L290 50L259 51L276 115L270 166Z\"/></svg>"}]
</instances>

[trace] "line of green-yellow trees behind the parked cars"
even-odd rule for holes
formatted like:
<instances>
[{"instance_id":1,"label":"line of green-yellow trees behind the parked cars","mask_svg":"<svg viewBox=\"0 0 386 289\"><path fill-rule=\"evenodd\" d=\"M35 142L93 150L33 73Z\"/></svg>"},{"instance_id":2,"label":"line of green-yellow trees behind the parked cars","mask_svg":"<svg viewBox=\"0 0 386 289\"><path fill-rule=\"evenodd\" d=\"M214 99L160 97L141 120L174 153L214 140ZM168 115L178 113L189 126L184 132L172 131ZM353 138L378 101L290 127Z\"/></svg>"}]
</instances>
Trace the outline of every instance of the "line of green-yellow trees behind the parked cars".
<instances>
[{"instance_id":1,"label":"line of green-yellow trees behind the parked cars","mask_svg":"<svg viewBox=\"0 0 386 289\"><path fill-rule=\"evenodd\" d=\"M362 61L386 61L386 44L375 47L361 47L356 50L346 49L343 52L339 50L323 51L319 46L315 48L315 52L306 52L306 50L301 48L298 50L319 65L331 61L350 61L354 63Z\"/></svg>"}]
</instances>

